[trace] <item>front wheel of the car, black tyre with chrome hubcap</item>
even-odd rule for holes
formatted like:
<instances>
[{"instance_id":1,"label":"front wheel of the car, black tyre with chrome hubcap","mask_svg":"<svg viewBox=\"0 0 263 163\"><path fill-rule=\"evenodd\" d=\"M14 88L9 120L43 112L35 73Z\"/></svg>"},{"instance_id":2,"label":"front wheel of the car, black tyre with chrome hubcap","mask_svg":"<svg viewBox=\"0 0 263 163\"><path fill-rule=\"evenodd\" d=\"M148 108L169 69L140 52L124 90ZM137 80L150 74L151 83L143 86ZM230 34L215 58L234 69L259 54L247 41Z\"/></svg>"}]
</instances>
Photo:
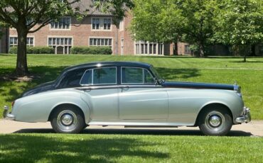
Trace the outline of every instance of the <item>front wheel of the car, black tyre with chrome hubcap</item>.
<instances>
[{"instance_id":1,"label":"front wheel of the car, black tyre with chrome hubcap","mask_svg":"<svg viewBox=\"0 0 263 163\"><path fill-rule=\"evenodd\" d=\"M227 135L232 128L232 116L225 108L213 106L200 113L198 126L205 135Z\"/></svg>"}]
</instances>

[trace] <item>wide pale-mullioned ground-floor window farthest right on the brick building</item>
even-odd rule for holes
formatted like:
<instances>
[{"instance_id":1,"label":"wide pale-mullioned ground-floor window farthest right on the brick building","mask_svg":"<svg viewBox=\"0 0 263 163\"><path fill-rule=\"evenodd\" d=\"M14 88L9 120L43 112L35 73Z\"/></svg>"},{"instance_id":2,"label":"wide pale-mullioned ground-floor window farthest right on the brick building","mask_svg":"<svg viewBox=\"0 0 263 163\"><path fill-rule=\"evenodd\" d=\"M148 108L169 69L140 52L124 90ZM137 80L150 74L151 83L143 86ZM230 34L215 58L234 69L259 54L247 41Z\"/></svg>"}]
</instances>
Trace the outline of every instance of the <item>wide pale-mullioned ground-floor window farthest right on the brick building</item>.
<instances>
[{"instance_id":1,"label":"wide pale-mullioned ground-floor window farthest right on the brick building","mask_svg":"<svg viewBox=\"0 0 263 163\"><path fill-rule=\"evenodd\" d=\"M135 42L136 55L163 55L163 43Z\"/></svg>"}]
</instances>

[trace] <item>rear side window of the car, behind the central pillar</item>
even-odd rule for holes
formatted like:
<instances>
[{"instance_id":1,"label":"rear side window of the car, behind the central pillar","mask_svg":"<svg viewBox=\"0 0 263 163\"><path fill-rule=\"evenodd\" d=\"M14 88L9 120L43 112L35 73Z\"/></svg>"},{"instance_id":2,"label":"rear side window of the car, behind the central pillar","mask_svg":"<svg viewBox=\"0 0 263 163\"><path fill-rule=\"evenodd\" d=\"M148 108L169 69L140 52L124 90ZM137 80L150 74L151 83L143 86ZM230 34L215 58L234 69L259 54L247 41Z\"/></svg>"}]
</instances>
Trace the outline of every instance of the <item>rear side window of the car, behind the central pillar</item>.
<instances>
[{"instance_id":1,"label":"rear side window of the car, behind the central pillar","mask_svg":"<svg viewBox=\"0 0 263 163\"><path fill-rule=\"evenodd\" d=\"M83 74L80 84L117 84L117 68L89 69Z\"/></svg>"}]
</instances>

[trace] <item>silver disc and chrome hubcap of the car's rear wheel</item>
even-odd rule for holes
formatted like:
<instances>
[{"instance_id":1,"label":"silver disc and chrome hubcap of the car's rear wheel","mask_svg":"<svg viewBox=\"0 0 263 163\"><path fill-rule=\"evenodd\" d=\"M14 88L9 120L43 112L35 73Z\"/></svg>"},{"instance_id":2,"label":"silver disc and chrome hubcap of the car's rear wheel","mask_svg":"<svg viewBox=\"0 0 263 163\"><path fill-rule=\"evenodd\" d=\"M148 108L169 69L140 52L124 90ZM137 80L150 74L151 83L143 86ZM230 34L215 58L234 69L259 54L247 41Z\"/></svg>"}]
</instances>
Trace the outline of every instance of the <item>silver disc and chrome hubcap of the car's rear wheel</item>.
<instances>
[{"instance_id":1,"label":"silver disc and chrome hubcap of the car's rear wheel","mask_svg":"<svg viewBox=\"0 0 263 163\"><path fill-rule=\"evenodd\" d=\"M64 110L57 117L58 128L65 132L70 132L77 127L77 116L73 111Z\"/></svg>"}]
</instances>

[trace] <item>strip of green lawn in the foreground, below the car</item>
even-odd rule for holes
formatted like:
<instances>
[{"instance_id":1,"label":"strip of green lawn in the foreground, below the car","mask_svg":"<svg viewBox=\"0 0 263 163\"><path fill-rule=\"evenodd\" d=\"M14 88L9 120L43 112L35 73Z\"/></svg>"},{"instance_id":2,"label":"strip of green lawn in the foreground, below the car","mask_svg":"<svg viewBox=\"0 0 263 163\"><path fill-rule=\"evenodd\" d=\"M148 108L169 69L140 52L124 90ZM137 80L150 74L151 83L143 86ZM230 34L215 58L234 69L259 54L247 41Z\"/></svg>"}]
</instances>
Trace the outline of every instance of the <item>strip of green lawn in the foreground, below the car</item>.
<instances>
[{"instance_id":1,"label":"strip of green lawn in the foreground, below the car","mask_svg":"<svg viewBox=\"0 0 263 163\"><path fill-rule=\"evenodd\" d=\"M262 162L263 137L0 135L0 162Z\"/></svg>"}]
</instances>

